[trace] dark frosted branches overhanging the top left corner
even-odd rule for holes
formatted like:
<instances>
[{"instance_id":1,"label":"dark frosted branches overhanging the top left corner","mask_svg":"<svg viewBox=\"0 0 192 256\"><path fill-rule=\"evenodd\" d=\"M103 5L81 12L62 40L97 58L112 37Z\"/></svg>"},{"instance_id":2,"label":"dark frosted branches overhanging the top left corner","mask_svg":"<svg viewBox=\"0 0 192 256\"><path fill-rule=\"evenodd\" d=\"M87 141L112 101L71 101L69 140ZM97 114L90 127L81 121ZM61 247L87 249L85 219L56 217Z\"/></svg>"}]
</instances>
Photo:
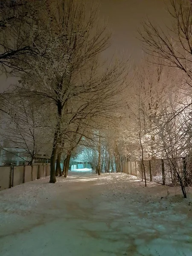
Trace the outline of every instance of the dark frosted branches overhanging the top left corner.
<instances>
[{"instance_id":1,"label":"dark frosted branches overhanging the top left corner","mask_svg":"<svg viewBox=\"0 0 192 256\"><path fill-rule=\"evenodd\" d=\"M39 44L37 27L44 1L7 0L0 3L0 68L14 73L30 68L26 58L43 55L46 47ZM45 7L45 6L44 6ZM16 73L15 73L16 72Z\"/></svg>"}]
</instances>

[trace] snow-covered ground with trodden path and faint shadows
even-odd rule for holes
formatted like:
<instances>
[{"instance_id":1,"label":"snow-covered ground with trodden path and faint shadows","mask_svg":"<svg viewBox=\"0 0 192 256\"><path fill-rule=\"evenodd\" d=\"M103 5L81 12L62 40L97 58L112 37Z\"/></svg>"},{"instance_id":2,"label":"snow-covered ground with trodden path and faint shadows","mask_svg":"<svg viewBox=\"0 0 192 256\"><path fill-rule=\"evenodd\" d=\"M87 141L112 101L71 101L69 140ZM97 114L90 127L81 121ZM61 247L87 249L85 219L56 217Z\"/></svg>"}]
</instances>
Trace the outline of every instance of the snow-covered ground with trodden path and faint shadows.
<instances>
[{"instance_id":1,"label":"snow-covered ground with trodden path and faint shadows","mask_svg":"<svg viewBox=\"0 0 192 256\"><path fill-rule=\"evenodd\" d=\"M0 256L192 256L192 198L167 188L73 172L1 191Z\"/></svg>"}]
</instances>

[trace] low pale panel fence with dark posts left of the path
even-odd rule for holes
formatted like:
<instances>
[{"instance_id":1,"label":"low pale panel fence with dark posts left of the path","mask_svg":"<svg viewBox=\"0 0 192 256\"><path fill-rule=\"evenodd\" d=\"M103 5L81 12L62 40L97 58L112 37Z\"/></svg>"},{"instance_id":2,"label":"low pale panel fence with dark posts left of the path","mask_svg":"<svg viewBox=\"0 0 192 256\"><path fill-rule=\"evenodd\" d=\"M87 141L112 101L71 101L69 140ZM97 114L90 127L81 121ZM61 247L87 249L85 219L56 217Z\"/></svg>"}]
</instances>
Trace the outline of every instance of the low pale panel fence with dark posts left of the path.
<instances>
[{"instance_id":1,"label":"low pale panel fence with dark posts left of the path","mask_svg":"<svg viewBox=\"0 0 192 256\"><path fill-rule=\"evenodd\" d=\"M50 164L0 166L0 190L50 175Z\"/></svg>"}]
</instances>

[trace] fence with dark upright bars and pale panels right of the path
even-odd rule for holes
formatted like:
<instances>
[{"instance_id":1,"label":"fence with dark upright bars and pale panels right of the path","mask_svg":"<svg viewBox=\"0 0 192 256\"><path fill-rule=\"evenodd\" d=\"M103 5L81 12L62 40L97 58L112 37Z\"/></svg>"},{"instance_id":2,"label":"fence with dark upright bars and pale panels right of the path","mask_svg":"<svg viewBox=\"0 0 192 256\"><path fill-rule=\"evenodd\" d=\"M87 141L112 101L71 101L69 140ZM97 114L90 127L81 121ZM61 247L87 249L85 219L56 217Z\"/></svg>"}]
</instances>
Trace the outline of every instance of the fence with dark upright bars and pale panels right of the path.
<instances>
[{"instance_id":1,"label":"fence with dark upright bars and pale panels right of the path","mask_svg":"<svg viewBox=\"0 0 192 256\"><path fill-rule=\"evenodd\" d=\"M178 175L185 186L192 186L192 158L144 160L146 179L168 186L180 186ZM122 172L144 179L142 161L122 163Z\"/></svg>"}]
</instances>

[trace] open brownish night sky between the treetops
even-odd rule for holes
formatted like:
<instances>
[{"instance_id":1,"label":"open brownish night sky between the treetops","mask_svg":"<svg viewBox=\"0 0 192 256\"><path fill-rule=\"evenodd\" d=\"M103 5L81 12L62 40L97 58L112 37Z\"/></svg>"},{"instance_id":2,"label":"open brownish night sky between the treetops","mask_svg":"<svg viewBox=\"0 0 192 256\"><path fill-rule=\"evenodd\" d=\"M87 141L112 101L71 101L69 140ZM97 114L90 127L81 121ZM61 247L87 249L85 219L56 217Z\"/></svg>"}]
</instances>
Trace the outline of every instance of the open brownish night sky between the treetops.
<instances>
[{"instance_id":1,"label":"open brownish night sky between the treetops","mask_svg":"<svg viewBox=\"0 0 192 256\"><path fill-rule=\"evenodd\" d=\"M136 38L137 29L148 16L155 23L169 24L169 15L165 3L169 0L100 0L101 17L108 20L113 30L113 43L108 49L109 57L114 49L125 50L134 60L142 54L141 42Z\"/></svg>"}]
</instances>

